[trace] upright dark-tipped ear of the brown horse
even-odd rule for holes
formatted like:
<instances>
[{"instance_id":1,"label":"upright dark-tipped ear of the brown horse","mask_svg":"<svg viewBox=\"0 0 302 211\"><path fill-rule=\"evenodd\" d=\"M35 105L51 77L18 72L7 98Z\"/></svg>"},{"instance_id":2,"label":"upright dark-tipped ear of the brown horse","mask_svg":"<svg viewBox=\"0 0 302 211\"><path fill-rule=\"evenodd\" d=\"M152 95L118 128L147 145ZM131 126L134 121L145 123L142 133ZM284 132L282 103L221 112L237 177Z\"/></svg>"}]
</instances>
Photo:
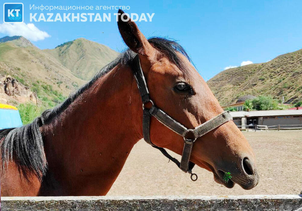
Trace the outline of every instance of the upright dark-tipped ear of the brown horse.
<instances>
[{"instance_id":1,"label":"upright dark-tipped ear of the brown horse","mask_svg":"<svg viewBox=\"0 0 302 211\"><path fill-rule=\"evenodd\" d=\"M117 26L126 45L140 55L153 55L155 49L150 45L143 33L140 32L137 25L130 18L128 21L124 21L122 19L124 11L121 9L118 10L118 13L120 15L118 16Z\"/></svg>"}]
</instances>

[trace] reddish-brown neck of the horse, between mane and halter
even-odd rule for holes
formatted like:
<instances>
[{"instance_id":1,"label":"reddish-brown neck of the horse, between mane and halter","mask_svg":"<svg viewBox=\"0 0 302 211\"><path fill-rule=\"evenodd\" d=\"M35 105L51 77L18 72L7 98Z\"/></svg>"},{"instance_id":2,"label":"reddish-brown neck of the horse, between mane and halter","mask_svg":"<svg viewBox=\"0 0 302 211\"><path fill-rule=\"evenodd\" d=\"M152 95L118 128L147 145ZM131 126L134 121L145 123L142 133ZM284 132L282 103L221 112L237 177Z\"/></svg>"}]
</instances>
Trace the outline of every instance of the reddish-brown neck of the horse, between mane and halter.
<instances>
[{"instance_id":1,"label":"reddish-brown neck of the horse, between mane and halter","mask_svg":"<svg viewBox=\"0 0 302 211\"><path fill-rule=\"evenodd\" d=\"M118 65L43 127L49 172L66 194L109 191L142 138L141 104L132 71Z\"/></svg>"}]
</instances>

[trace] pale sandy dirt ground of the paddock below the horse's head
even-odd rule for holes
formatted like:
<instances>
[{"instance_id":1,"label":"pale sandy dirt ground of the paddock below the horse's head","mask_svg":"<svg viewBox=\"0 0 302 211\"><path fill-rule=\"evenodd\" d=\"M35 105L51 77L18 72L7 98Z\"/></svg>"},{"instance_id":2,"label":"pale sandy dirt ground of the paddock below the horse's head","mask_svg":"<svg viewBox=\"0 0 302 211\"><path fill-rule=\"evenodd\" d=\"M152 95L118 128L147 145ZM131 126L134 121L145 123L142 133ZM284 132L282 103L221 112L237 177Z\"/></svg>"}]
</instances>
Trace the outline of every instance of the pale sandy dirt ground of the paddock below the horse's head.
<instances>
[{"instance_id":1,"label":"pale sandy dirt ground of the paddock below the horse's head","mask_svg":"<svg viewBox=\"0 0 302 211\"><path fill-rule=\"evenodd\" d=\"M302 131L244 132L251 144L260 176L252 190L228 189L213 174L195 166L193 182L159 150L140 140L131 151L110 195L249 195L299 194L302 190ZM175 155L175 154L173 154ZM177 156L179 158L180 156Z\"/></svg>"}]
</instances>

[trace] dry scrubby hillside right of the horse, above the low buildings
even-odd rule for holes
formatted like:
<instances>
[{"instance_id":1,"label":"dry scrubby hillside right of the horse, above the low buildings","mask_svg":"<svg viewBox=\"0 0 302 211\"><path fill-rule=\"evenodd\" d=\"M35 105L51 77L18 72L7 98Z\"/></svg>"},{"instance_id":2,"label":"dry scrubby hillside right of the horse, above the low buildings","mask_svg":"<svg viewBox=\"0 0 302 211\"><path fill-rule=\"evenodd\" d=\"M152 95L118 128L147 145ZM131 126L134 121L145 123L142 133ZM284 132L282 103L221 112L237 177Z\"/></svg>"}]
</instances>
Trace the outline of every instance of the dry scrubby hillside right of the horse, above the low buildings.
<instances>
[{"instance_id":1,"label":"dry scrubby hillside right of the horse, above the low buildings","mask_svg":"<svg viewBox=\"0 0 302 211\"><path fill-rule=\"evenodd\" d=\"M244 95L270 95L288 103L302 99L302 49L271 61L230 68L207 81L220 105Z\"/></svg>"}]
</instances>

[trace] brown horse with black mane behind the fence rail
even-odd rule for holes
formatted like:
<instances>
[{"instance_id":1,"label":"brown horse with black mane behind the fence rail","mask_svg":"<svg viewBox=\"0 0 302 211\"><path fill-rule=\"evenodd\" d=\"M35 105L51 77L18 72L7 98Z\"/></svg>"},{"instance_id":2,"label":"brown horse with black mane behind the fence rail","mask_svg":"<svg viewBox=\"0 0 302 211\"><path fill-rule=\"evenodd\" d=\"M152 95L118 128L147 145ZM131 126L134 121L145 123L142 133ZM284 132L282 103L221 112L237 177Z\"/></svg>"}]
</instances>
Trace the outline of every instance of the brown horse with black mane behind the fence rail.
<instances>
[{"instance_id":1,"label":"brown horse with black mane behind the fence rail","mask_svg":"<svg viewBox=\"0 0 302 211\"><path fill-rule=\"evenodd\" d=\"M136 54L151 98L176 121L194 128L223 112L178 43L147 40L134 22L120 16L118 27L130 49L33 123L0 131L2 196L107 194L143 138L142 100L131 65ZM183 137L153 117L150 137L182 154ZM199 137L190 160L229 188L237 183L248 190L259 180L252 149L233 121ZM232 175L227 183L224 172Z\"/></svg>"}]
</instances>

